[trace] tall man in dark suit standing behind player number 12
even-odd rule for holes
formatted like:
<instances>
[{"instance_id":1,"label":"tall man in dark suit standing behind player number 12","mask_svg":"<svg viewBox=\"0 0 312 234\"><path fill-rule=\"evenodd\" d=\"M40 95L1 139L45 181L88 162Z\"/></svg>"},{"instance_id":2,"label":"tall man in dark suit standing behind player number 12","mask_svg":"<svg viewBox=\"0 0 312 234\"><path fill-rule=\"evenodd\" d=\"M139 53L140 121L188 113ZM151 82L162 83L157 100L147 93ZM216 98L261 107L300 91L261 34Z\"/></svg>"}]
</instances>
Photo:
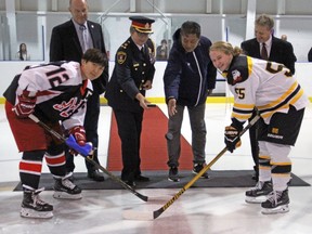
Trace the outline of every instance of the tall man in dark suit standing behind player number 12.
<instances>
[{"instance_id":1,"label":"tall man in dark suit standing behind player number 12","mask_svg":"<svg viewBox=\"0 0 312 234\"><path fill-rule=\"evenodd\" d=\"M83 52L89 48L96 48L106 53L101 25L88 21L87 0L69 0L68 10L72 13L72 20L55 26L52 30L50 61L80 62ZM104 93L107 81L108 68L105 68L100 78L92 81L94 92L87 103L83 127L87 141L92 142L94 148L99 146L100 94ZM94 151L93 160L99 162L96 150ZM86 160L86 166L90 179L104 181L104 177L93 165ZM69 152L66 155L66 168L68 172L73 172L75 169L74 156Z\"/></svg>"}]
</instances>

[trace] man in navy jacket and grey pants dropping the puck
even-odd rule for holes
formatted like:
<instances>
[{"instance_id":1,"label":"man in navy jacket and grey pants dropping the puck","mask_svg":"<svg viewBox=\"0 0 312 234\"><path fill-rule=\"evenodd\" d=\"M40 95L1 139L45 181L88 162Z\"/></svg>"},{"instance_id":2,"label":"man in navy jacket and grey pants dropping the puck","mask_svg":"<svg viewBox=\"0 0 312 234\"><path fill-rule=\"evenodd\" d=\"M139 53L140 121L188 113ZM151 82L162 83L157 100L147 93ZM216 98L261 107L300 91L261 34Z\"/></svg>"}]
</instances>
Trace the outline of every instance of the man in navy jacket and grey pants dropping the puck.
<instances>
[{"instance_id":1,"label":"man in navy jacket and grey pants dropping the puck","mask_svg":"<svg viewBox=\"0 0 312 234\"><path fill-rule=\"evenodd\" d=\"M198 173L205 160L206 99L216 87L217 69L209 57L211 41L200 35L196 22L184 22L173 35L168 64L164 75L166 103L169 112L168 146L169 181L178 182L181 152L181 125L187 107L192 128L193 173ZM208 174L203 174L208 178Z\"/></svg>"}]
</instances>

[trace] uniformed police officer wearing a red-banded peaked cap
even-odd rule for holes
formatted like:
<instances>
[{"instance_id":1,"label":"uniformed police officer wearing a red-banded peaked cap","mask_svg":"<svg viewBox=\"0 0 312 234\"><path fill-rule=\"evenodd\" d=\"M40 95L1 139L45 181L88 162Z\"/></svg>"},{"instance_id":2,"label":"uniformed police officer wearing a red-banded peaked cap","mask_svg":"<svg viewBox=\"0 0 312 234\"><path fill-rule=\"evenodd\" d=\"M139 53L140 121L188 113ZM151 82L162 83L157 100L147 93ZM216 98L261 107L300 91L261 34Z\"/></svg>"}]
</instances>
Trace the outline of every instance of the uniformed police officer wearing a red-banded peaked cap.
<instances>
[{"instance_id":1,"label":"uniformed police officer wearing a red-banded peaked cap","mask_svg":"<svg viewBox=\"0 0 312 234\"><path fill-rule=\"evenodd\" d=\"M150 180L141 174L140 138L143 112L148 108L145 91L152 88L155 74L155 44L150 39L155 21L144 16L130 20L130 37L116 53L105 98L113 108L121 140L121 180L135 186L134 181Z\"/></svg>"}]
</instances>

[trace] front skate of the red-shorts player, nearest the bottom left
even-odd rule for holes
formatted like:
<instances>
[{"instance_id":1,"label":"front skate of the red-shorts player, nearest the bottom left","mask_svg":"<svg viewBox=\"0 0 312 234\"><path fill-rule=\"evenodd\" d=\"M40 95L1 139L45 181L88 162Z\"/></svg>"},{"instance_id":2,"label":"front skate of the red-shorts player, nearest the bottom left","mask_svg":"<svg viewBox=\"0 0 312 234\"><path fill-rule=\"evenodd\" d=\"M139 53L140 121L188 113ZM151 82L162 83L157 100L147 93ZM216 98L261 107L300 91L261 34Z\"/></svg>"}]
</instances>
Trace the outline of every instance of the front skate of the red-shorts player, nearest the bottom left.
<instances>
[{"instance_id":1,"label":"front skate of the red-shorts player, nearest the bottom left","mask_svg":"<svg viewBox=\"0 0 312 234\"><path fill-rule=\"evenodd\" d=\"M24 191L24 197L22 202L21 217L49 219L53 217L53 206L41 200L39 193L44 188Z\"/></svg>"}]
</instances>

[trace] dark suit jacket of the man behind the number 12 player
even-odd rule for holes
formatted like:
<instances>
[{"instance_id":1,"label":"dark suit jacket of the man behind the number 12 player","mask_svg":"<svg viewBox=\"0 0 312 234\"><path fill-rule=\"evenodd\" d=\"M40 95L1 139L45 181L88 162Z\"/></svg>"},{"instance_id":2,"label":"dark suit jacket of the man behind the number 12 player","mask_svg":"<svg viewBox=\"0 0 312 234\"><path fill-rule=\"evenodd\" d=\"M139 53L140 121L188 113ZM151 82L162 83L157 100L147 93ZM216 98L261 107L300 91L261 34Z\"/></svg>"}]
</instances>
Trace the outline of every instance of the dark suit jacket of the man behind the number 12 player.
<instances>
[{"instance_id":1,"label":"dark suit jacket of the man behind the number 12 player","mask_svg":"<svg viewBox=\"0 0 312 234\"><path fill-rule=\"evenodd\" d=\"M106 54L104 37L100 24L88 21L88 28L93 41L93 47ZM82 49L73 21L65 22L52 29L50 41L50 61L76 61L81 62ZM92 80L94 94L101 94L105 91L108 81L108 64L103 74L95 80Z\"/></svg>"}]
</instances>

